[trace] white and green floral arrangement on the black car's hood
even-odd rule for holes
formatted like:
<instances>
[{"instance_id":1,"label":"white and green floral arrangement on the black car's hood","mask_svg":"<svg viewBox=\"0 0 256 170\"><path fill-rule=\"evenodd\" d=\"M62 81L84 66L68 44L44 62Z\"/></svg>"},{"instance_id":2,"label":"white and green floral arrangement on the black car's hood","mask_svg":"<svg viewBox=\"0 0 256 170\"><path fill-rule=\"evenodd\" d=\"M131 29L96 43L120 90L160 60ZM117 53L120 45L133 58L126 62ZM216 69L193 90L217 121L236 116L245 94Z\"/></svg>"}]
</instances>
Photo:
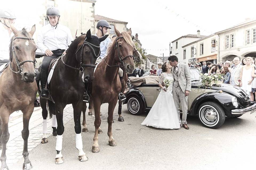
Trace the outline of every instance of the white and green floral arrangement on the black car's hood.
<instances>
[{"instance_id":1,"label":"white and green floral arrangement on the black car's hood","mask_svg":"<svg viewBox=\"0 0 256 170\"><path fill-rule=\"evenodd\" d=\"M200 77L202 79L201 86L204 86L205 88L213 85L220 85L222 84L222 80L224 79L222 74L208 75L207 73L201 73ZM198 86L198 88L200 88L201 86Z\"/></svg>"}]
</instances>

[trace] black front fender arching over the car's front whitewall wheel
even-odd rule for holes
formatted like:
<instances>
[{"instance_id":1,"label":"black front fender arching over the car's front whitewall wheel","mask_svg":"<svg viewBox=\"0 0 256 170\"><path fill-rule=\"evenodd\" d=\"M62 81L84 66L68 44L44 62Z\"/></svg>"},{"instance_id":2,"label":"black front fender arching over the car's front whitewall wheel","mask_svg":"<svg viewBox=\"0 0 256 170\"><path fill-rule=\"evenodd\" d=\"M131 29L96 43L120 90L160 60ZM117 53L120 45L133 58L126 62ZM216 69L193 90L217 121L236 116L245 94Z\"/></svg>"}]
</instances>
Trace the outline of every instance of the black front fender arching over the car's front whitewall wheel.
<instances>
[{"instance_id":1,"label":"black front fender arching over the car's front whitewall wheel","mask_svg":"<svg viewBox=\"0 0 256 170\"><path fill-rule=\"evenodd\" d=\"M191 104L189 114L190 115L197 115L199 106L206 102L206 101L213 101L218 103L225 111L226 116L231 115L231 110L234 109L232 103L232 95L227 93L220 93L220 92L207 92L196 99L194 99L193 103Z\"/></svg>"}]
</instances>

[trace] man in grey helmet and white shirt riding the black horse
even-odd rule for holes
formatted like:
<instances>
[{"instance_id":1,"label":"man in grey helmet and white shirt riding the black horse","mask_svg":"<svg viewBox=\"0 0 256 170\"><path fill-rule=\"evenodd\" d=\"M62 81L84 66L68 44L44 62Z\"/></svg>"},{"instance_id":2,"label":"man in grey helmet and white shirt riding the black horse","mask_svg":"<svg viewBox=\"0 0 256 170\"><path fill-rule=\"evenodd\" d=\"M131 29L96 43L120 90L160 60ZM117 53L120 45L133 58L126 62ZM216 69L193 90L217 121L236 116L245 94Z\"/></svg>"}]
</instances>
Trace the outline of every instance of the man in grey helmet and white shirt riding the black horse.
<instances>
[{"instance_id":1,"label":"man in grey helmet and white shirt riding the black horse","mask_svg":"<svg viewBox=\"0 0 256 170\"><path fill-rule=\"evenodd\" d=\"M42 86L42 98L49 99L49 90L45 88L48 78L48 69L51 61L62 54L66 54L68 46L73 41L70 29L59 24L60 12L56 7L50 7L46 11L49 24L42 27L38 34L37 46L45 52L41 65L40 82Z\"/></svg>"}]
</instances>

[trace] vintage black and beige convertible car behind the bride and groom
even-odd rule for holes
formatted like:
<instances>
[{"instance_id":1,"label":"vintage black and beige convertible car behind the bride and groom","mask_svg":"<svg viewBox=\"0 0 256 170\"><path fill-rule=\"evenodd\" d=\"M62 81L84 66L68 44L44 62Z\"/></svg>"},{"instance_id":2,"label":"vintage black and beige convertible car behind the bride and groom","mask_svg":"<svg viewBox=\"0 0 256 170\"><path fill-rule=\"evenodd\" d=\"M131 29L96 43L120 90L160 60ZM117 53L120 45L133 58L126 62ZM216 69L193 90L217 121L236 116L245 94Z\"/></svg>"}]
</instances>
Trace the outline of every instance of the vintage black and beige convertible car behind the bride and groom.
<instances>
[{"instance_id":1,"label":"vintage black and beige convertible car behind the bride and groom","mask_svg":"<svg viewBox=\"0 0 256 170\"><path fill-rule=\"evenodd\" d=\"M190 68L190 73L192 86L187 114L198 115L203 126L216 129L223 125L225 116L240 117L247 112L255 112L256 102L250 101L248 92L225 83L208 88L200 87L201 72ZM151 109L160 91L158 83L142 83L125 93L123 104L127 104L131 114L141 114Z\"/></svg>"}]
</instances>

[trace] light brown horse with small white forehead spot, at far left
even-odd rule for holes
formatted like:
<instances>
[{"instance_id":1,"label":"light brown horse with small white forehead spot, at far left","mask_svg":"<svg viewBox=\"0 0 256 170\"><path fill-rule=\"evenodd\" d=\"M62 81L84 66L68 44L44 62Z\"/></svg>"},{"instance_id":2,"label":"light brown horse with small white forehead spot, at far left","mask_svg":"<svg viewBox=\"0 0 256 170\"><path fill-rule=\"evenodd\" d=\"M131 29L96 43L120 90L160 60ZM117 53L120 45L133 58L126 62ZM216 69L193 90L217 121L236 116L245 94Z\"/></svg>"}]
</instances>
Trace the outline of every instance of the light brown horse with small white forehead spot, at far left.
<instances>
[{"instance_id":1,"label":"light brown horse with small white forehead spot, at far left","mask_svg":"<svg viewBox=\"0 0 256 170\"><path fill-rule=\"evenodd\" d=\"M18 31L10 26L14 36L10 43L10 62L0 77L0 120L1 120L1 143L2 162L1 169L8 169L6 164L6 143L10 134L8 121L11 113L21 110L23 113L23 130L21 132L24 141L23 146L23 170L32 169L27 150L29 137L29 120L34 111L34 100L37 94L37 77L35 72L35 50L37 45L32 38L35 25L27 32L25 28Z\"/></svg>"}]
</instances>

